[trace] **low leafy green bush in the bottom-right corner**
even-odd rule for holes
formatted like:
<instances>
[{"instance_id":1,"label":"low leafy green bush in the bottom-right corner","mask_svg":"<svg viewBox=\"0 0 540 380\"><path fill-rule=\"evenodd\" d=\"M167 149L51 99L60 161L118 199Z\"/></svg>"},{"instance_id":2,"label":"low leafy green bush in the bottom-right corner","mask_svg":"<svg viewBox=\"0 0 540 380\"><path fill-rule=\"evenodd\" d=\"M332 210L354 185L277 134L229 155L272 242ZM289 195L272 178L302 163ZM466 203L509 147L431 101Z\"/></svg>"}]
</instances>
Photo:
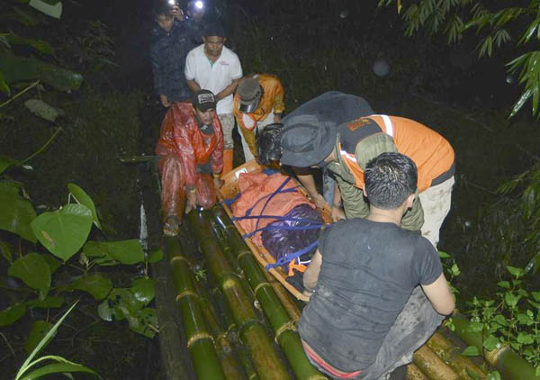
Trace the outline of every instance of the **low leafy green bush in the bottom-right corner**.
<instances>
[{"instance_id":1,"label":"low leafy green bush in the bottom-right corner","mask_svg":"<svg viewBox=\"0 0 540 380\"><path fill-rule=\"evenodd\" d=\"M520 353L540 374L540 292L528 292L523 286L525 270L507 267L510 281L500 281L501 291L493 299L473 298L468 313L472 332L483 333L482 348L491 351L509 346ZM462 355L480 355L466 348Z\"/></svg>"}]
</instances>

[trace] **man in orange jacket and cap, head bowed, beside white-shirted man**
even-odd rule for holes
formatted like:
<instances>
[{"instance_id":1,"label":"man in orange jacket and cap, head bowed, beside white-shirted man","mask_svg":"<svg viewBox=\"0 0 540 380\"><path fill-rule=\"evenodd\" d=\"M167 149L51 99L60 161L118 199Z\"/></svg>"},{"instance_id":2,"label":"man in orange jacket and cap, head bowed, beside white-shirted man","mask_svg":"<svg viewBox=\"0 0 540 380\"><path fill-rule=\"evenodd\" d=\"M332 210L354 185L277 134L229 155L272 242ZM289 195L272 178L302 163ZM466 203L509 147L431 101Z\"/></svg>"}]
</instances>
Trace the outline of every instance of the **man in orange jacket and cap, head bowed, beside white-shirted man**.
<instances>
[{"instance_id":1,"label":"man in orange jacket and cap, head bowed, beside white-shirted man","mask_svg":"<svg viewBox=\"0 0 540 380\"><path fill-rule=\"evenodd\" d=\"M232 111L242 136L246 162L257 155L256 131L281 122L284 110L284 86L277 77L256 74L240 81Z\"/></svg>"}]
</instances>

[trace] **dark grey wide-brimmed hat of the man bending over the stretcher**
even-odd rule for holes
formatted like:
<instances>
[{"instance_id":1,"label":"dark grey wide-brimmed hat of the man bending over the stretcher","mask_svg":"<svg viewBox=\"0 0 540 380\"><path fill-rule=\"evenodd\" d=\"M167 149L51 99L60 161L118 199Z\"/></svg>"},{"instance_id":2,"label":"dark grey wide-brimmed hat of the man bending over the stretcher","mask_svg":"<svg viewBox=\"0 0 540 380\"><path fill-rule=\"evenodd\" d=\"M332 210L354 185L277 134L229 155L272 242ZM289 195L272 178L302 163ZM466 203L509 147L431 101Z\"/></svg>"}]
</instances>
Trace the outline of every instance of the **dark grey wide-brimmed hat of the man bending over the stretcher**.
<instances>
[{"instance_id":1,"label":"dark grey wide-brimmed hat of the man bending over the stretcher","mask_svg":"<svg viewBox=\"0 0 540 380\"><path fill-rule=\"evenodd\" d=\"M329 122L296 123L282 131L283 165L311 167L327 158L336 145L336 124Z\"/></svg>"}]
</instances>

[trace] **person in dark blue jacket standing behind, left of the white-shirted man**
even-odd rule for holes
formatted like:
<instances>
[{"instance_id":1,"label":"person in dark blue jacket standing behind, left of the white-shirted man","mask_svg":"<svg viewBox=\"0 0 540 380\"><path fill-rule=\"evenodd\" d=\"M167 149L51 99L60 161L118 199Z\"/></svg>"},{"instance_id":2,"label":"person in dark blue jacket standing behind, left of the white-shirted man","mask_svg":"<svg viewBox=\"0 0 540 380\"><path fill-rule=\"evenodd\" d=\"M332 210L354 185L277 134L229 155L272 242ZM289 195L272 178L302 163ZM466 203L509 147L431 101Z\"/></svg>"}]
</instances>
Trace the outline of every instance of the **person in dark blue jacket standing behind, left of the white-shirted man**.
<instances>
[{"instance_id":1,"label":"person in dark blue jacket standing behind, left of the white-shirted man","mask_svg":"<svg viewBox=\"0 0 540 380\"><path fill-rule=\"evenodd\" d=\"M196 44L193 31L176 5L159 2L154 6L155 26L150 41L154 87L163 106L191 99L185 83L185 56Z\"/></svg>"}]
</instances>

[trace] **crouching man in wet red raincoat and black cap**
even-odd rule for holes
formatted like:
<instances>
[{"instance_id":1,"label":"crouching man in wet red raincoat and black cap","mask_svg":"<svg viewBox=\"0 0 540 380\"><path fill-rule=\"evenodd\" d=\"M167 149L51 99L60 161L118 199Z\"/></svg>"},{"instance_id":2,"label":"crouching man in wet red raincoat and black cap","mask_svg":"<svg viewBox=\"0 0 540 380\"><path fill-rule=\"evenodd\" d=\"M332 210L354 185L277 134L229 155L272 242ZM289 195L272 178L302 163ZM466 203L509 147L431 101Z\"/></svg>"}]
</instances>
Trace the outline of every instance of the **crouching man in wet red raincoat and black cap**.
<instances>
[{"instance_id":1,"label":"crouching man in wet red raincoat and black cap","mask_svg":"<svg viewBox=\"0 0 540 380\"><path fill-rule=\"evenodd\" d=\"M208 209L216 203L223 168L223 133L215 110L215 96L200 90L193 95L193 104L175 103L169 107L161 125L156 153L163 233L168 236L178 233L184 209L189 213L197 204Z\"/></svg>"}]
</instances>

